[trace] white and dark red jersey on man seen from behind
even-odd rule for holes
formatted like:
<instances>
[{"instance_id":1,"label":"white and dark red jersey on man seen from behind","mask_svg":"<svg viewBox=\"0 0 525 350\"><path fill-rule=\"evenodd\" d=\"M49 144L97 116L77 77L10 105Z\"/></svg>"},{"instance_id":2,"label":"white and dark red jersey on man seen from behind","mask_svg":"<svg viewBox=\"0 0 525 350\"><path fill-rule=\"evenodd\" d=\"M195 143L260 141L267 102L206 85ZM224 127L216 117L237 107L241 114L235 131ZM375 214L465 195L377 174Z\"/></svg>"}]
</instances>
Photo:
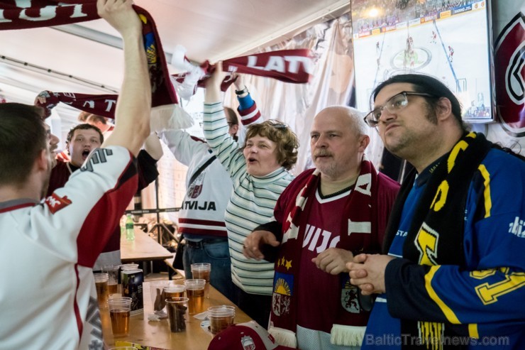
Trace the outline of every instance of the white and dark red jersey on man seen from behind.
<instances>
[{"instance_id":1,"label":"white and dark red jersey on man seen from behind","mask_svg":"<svg viewBox=\"0 0 525 350\"><path fill-rule=\"evenodd\" d=\"M103 349L92 267L136 188L111 146L43 202L0 203L0 349Z\"/></svg>"}]
</instances>

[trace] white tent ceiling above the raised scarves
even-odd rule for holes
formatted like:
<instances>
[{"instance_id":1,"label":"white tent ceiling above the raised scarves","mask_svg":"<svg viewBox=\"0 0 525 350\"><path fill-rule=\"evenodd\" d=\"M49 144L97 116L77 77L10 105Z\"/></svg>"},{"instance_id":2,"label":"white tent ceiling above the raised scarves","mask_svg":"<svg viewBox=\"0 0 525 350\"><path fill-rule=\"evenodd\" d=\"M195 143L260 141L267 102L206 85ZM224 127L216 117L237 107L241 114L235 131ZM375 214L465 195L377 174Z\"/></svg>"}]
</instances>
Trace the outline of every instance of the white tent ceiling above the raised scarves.
<instances>
[{"instance_id":1,"label":"white tent ceiling above the raised scarves","mask_svg":"<svg viewBox=\"0 0 525 350\"><path fill-rule=\"evenodd\" d=\"M167 62L177 44L187 48L191 60L215 62L255 52L350 10L349 0L135 3L153 16ZM43 89L116 92L122 80L122 62L118 33L103 20L0 31L0 94L11 102L31 103ZM57 112L62 128L76 121L77 111L70 107L59 106Z\"/></svg>"}]
</instances>

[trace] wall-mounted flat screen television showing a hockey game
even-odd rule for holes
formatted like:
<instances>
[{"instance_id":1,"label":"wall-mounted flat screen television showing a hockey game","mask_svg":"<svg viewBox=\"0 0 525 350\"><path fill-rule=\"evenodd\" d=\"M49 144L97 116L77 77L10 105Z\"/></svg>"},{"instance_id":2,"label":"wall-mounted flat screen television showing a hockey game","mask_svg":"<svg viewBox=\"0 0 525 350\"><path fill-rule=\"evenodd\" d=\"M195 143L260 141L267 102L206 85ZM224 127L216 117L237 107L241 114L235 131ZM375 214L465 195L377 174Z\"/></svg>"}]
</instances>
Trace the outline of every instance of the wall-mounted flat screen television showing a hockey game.
<instances>
[{"instance_id":1,"label":"wall-mounted flat screen television showing a hockey game","mask_svg":"<svg viewBox=\"0 0 525 350\"><path fill-rule=\"evenodd\" d=\"M392 75L438 78L460 100L469 123L495 116L490 1L351 0L355 98Z\"/></svg>"}]
</instances>

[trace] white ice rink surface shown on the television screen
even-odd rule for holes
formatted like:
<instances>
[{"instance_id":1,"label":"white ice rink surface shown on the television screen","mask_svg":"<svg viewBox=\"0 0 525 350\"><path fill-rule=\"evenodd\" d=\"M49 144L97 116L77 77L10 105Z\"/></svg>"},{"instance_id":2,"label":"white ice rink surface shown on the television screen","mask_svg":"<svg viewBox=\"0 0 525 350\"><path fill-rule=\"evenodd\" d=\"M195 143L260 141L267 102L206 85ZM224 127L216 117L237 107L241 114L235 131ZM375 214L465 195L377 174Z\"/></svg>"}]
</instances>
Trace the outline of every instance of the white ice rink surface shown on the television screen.
<instances>
[{"instance_id":1,"label":"white ice rink surface shown on the television screen","mask_svg":"<svg viewBox=\"0 0 525 350\"><path fill-rule=\"evenodd\" d=\"M354 36L358 109L370 108L370 93L380 82L392 75L416 72L433 75L456 92L464 114L482 105L490 111L486 16L485 9L467 11L364 38ZM409 37L413 54L405 59Z\"/></svg>"}]
</instances>

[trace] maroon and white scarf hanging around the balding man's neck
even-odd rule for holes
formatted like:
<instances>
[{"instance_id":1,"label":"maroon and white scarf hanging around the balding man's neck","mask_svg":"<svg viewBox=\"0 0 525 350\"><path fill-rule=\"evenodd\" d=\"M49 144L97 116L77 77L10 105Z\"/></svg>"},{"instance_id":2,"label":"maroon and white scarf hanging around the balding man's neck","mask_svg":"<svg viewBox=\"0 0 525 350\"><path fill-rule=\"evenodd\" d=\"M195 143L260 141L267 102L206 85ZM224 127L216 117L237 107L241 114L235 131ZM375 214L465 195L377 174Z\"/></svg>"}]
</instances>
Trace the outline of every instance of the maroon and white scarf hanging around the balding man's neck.
<instances>
[{"instance_id":1,"label":"maroon and white scarf hanging around the balding man's neck","mask_svg":"<svg viewBox=\"0 0 525 350\"><path fill-rule=\"evenodd\" d=\"M289 198L295 198L295 200L289 200L284 212L284 217L287 219L282 224L282 245L275 263L269 332L275 337L277 343L284 346L297 346L295 344L295 331L297 308L299 307L297 305L298 295L308 292L308 286L298 283L299 263L297 262L301 259L302 243L311 211L311 203L314 202L321 176L319 170L306 171L310 173L306 179L299 175L296 181L302 180L302 182L296 186L293 186L294 182L289 185L289 189L294 191ZM304 186L299 187L302 184ZM363 160L360 174L352 192L348 195L345 206L341 208L341 229L339 230L341 241L338 246L352 247L353 252L378 252L380 250L376 212L377 201L379 200L377 185L378 177L375 168L370 161ZM290 261L291 266L280 263L280 261ZM287 285L289 292L283 294L282 290L287 290L287 288L277 288L279 285ZM345 293L346 297L342 297L342 293ZM351 299L348 302L357 303L357 297L357 290L348 282L348 273L341 273L341 288L339 290L326 290L326 298L341 300L331 332L333 344L347 346L361 344L368 313L364 311L350 312L343 305L343 300L348 300L348 298ZM311 317L317 317L317 315L311 315Z\"/></svg>"}]
</instances>

